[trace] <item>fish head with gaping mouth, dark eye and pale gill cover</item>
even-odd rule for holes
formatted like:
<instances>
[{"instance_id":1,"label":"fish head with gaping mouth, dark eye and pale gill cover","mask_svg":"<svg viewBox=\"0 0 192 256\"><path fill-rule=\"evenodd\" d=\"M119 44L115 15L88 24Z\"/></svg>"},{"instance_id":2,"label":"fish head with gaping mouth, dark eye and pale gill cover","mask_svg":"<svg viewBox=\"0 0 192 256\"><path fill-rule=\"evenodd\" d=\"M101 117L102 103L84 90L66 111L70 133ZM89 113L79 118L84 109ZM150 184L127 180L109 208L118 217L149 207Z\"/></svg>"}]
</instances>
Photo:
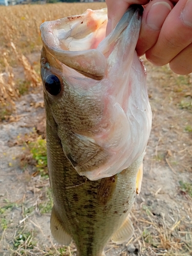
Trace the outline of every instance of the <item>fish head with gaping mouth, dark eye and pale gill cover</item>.
<instances>
[{"instance_id":1,"label":"fish head with gaping mouth, dark eye and pale gill cover","mask_svg":"<svg viewBox=\"0 0 192 256\"><path fill-rule=\"evenodd\" d=\"M106 9L89 9L40 27L47 124L90 180L129 167L151 131L146 72L135 51L141 10L129 8L107 37L106 23Z\"/></svg>"}]
</instances>

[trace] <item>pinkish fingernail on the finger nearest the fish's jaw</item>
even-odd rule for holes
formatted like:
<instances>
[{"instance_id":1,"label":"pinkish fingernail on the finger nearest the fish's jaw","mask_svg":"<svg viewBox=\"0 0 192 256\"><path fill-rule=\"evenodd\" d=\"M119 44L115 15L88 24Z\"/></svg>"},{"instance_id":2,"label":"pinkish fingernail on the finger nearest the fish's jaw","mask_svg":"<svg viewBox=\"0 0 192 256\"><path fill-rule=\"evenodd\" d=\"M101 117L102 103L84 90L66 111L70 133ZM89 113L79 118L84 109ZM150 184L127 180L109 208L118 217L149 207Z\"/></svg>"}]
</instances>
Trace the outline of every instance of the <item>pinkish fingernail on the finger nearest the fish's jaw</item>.
<instances>
[{"instance_id":1,"label":"pinkish fingernail on the finger nearest the fish's jaw","mask_svg":"<svg viewBox=\"0 0 192 256\"><path fill-rule=\"evenodd\" d=\"M147 13L146 24L153 30L160 30L171 10L172 7L170 7L170 5L166 2L158 2L153 4Z\"/></svg>"}]
</instances>

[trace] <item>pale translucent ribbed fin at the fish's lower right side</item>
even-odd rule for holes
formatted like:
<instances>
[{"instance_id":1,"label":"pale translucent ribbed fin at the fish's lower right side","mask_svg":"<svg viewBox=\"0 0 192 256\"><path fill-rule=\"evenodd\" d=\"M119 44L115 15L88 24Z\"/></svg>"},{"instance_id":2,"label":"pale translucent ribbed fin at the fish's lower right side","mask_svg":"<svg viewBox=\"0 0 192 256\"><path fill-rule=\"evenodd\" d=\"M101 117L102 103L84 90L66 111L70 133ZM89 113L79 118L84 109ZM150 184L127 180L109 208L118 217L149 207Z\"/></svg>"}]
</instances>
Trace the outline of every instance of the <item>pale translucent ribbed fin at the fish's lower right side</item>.
<instances>
[{"instance_id":1,"label":"pale translucent ribbed fin at the fish's lower right side","mask_svg":"<svg viewBox=\"0 0 192 256\"><path fill-rule=\"evenodd\" d=\"M134 227L129 216L126 217L120 228L113 234L112 241L121 244L128 241L134 234Z\"/></svg>"}]
</instances>

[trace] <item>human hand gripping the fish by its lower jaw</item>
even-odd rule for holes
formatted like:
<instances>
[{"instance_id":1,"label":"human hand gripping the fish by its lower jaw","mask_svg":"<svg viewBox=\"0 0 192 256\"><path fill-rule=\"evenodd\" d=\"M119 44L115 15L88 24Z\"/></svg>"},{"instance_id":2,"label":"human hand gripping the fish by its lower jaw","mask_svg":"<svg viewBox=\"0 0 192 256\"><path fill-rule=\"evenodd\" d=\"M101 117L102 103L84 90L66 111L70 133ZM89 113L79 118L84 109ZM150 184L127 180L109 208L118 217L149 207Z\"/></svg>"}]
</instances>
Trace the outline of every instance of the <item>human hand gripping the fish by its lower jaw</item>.
<instances>
[{"instance_id":1,"label":"human hand gripping the fish by its lower jaw","mask_svg":"<svg viewBox=\"0 0 192 256\"><path fill-rule=\"evenodd\" d=\"M111 19L107 33L133 4L127 1L106 0ZM138 2L146 4L144 0L137 0L134 4ZM145 6L136 50L139 56L145 54L154 65L169 63L175 73L185 75L192 72L192 0L175 2L178 3L175 5L174 0L153 0Z\"/></svg>"}]
</instances>

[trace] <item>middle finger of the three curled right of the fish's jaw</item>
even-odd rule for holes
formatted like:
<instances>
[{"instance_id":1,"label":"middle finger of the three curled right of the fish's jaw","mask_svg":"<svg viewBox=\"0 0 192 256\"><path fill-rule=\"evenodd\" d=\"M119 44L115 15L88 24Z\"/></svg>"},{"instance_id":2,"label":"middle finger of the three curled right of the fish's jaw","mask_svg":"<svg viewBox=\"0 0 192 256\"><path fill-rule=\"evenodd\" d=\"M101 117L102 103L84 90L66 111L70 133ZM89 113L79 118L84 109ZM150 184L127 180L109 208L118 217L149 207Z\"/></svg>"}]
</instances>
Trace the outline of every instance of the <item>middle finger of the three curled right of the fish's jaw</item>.
<instances>
[{"instance_id":1,"label":"middle finger of the three curled right of the fish's jaw","mask_svg":"<svg viewBox=\"0 0 192 256\"><path fill-rule=\"evenodd\" d=\"M163 66L191 42L192 0L180 0L165 19L155 46L145 55L155 65Z\"/></svg>"}]
</instances>

